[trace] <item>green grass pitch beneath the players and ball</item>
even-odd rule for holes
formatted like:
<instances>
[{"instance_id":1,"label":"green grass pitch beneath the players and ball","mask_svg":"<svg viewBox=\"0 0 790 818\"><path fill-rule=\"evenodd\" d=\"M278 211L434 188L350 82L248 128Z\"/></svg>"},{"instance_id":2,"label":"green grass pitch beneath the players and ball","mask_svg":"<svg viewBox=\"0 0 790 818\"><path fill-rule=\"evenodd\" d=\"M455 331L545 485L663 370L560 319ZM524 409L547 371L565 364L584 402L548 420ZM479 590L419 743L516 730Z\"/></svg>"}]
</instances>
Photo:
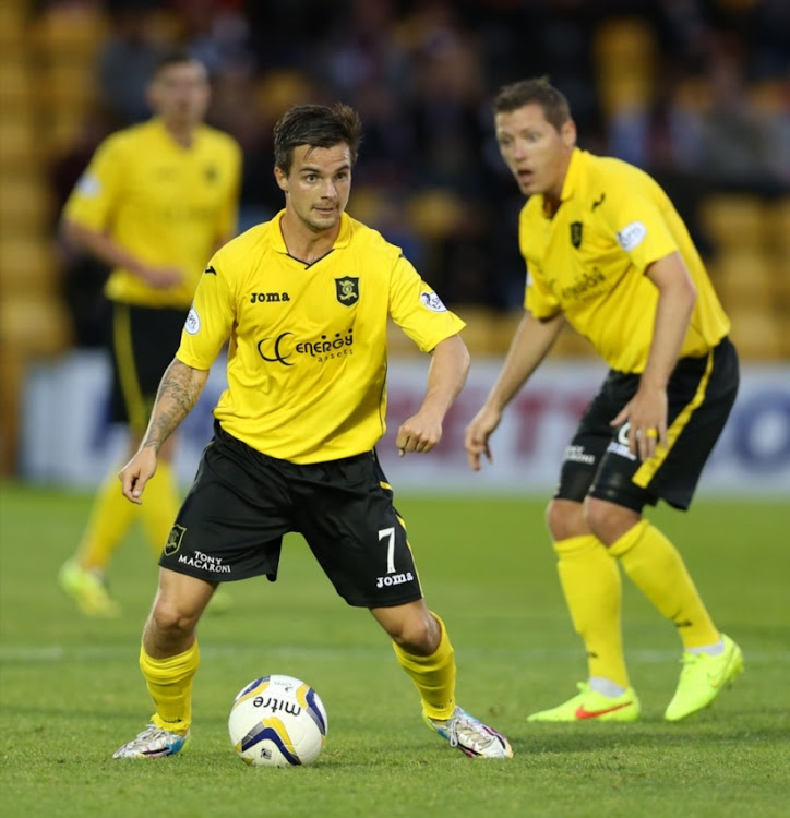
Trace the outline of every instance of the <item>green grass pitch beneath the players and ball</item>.
<instances>
[{"instance_id":1,"label":"green grass pitch beneath the players and ball","mask_svg":"<svg viewBox=\"0 0 790 818\"><path fill-rule=\"evenodd\" d=\"M653 519L677 542L747 672L693 720L661 714L677 681L673 629L625 588L625 641L644 719L527 724L585 675L542 522L543 501L402 497L431 608L458 661L458 699L510 737L515 758L471 761L424 727L417 694L364 611L335 596L303 542L280 579L228 586L201 623L193 742L183 757L118 762L151 713L136 666L156 569L133 533L110 580L124 616L81 617L55 575L89 497L0 489L0 813L145 816L785 816L790 804L787 504L698 502ZM311 767L248 768L226 732L235 694L288 673L330 715Z\"/></svg>"}]
</instances>

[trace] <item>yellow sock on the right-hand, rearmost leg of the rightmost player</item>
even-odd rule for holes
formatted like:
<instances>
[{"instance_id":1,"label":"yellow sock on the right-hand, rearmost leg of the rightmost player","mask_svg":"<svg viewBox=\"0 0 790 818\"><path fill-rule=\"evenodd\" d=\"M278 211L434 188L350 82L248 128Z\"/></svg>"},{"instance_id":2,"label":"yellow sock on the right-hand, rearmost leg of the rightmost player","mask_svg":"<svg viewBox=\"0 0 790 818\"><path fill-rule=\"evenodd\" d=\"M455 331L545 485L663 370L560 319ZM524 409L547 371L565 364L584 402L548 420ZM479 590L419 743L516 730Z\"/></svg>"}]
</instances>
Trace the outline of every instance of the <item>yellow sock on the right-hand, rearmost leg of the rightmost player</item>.
<instances>
[{"instance_id":1,"label":"yellow sock on the right-hand, rearmost leg of the rightmost player","mask_svg":"<svg viewBox=\"0 0 790 818\"><path fill-rule=\"evenodd\" d=\"M686 650L714 645L721 635L703 604L683 558L648 520L639 520L609 549L634 585L671 619Z\"/></svg>"}]
</instances>

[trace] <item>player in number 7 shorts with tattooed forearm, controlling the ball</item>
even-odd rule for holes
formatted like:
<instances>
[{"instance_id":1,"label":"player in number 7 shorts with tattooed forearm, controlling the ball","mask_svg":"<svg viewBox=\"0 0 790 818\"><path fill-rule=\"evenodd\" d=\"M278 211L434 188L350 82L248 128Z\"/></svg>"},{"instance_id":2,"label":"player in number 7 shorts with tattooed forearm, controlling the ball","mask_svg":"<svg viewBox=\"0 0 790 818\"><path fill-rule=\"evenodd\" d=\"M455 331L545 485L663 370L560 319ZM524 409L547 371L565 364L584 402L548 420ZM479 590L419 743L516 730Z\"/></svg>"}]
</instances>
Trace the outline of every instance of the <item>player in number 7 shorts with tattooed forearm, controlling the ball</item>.
<instances>
[{"instance_id":1,"label":"player in number 7 shorts with tattooed forearm, controlling the ball","mask_svg":"<svg viewBox=\"0 0 790 818\"><path fill-rule=\"evenodd\" d=\"M428 724L469 756L512 755L455 702L453 647L426 605L374 450L384 434L387 317L432 359L423 402L398 429L402 455L439 443L469 356L464 323L399 249L345 213L360 132L344 105L297 106L276 124L285 209L208 262L145 438L121 471L123 494L141 503L157 454L229 341L215 435L159 561L143 633L140 665L156 712L116 758L185 748L198 621L217 582L275 580L289 531L303 534L337 593L390 635Z\"/></svg>"}]
</instances>

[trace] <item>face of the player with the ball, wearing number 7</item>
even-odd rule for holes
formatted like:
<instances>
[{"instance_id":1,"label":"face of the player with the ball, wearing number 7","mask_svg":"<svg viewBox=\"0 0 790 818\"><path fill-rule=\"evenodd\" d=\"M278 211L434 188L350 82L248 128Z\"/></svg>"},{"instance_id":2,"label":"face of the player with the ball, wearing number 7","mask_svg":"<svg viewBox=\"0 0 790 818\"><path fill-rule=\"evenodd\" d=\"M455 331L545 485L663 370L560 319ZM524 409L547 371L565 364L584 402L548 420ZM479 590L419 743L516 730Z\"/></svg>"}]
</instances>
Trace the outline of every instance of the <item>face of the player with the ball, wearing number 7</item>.
<instances>
[{"instance_id":1,"label":"face of the player with the ball, wearing number 7","mask_svg":"<svg viewBox=\"0 0 790 818\"><path fill-rule=\"evenodd\" d=\"M311 231L337 227L351 192L351 152L345 142L333 147L294 148L290 172L275 168L286 192L286 208Z\"/></svg>"}]
</instances>

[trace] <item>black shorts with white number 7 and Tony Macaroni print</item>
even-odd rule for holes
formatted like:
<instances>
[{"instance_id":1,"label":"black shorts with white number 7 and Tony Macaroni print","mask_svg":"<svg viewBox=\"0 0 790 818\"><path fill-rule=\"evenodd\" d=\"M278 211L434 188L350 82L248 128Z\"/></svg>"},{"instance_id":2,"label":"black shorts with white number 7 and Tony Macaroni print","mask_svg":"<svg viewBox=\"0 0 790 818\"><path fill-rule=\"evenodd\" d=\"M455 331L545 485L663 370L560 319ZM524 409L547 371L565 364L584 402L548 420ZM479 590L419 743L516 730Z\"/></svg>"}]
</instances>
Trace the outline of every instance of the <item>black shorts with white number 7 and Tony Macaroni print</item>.
<instances>
[{"instance_id":1,"label":"black shorts with white number 7 and Tony Macaroni print","mask_svg":"<svg viewBox=\"0 0 790 818\"><path fill-rule=\"evenodd\" d=\"M296 531L349 605L422 598L406 527L374 452L318 464L261 454L214 424L159 565L210 582L277 578Z\"/></svg>"}]
</instances>

